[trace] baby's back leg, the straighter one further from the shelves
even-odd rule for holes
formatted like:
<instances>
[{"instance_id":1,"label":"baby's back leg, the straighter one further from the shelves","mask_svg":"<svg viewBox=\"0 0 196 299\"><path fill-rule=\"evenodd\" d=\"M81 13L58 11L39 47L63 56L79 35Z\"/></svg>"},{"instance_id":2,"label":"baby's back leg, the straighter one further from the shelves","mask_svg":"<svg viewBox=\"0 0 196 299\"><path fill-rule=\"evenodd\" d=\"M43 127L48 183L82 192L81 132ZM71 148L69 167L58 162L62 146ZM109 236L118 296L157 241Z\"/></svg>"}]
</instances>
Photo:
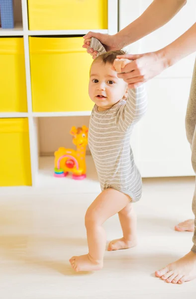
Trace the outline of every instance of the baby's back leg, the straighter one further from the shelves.
<instances>
[{"instance_id":1,"label":"baby's back leg, the straighter one further from the shelves","mask_svg":"<svg viewBox=\"0 0 196 299\"><path fill-rule=\"evenodd\" d=\"M109 243L107 250L131 248L137 245L137 217L131 203L118 212L123 237Z\"/></svg>"}]
</instances>

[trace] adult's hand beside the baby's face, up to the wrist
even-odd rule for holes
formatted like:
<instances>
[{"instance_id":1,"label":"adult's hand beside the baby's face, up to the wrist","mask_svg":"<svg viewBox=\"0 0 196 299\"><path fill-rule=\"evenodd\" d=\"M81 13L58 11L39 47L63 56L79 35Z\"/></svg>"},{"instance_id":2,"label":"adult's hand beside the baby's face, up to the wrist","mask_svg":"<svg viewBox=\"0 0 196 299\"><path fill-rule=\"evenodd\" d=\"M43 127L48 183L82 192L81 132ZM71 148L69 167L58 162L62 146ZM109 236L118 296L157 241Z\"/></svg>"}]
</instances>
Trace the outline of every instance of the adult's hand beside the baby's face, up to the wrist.
<instances>
[{"instance_id":1,"label":"adult's hand beside the baby's face, up to the wrist","mask_svg":"<svg viewBox=\"0 0 196 299\"><path fill-rule=\"evenodd\" d=\"M167 60L161 50L138 55L124 54L117 56L117 58L133 60L122 68L120 74L117 74L118 78L122 78L128 83L128 88L138 87L168 67Z\"/></svg>"}]
</instances>

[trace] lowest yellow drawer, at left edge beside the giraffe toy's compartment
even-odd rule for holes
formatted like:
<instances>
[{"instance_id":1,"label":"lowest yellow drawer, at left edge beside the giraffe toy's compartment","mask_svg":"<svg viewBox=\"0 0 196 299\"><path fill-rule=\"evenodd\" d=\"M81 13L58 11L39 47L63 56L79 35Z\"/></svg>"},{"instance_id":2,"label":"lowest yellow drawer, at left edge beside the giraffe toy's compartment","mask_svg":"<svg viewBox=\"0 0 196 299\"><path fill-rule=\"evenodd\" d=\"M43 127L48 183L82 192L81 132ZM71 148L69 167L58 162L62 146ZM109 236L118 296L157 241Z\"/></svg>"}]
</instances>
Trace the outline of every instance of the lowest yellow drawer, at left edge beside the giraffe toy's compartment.
<instances>
[{"instance_id":1,"label":"lowest yellow drawer, at left edge beside the giraffe toy's compartment","mask_svg":"<svg viewBox=\"0 0 196 299\"><path fill-rule=\"evenodd\" d=\"M0 187L31 185L28 120L0 119Z\"/></svg>"}]
</instances>

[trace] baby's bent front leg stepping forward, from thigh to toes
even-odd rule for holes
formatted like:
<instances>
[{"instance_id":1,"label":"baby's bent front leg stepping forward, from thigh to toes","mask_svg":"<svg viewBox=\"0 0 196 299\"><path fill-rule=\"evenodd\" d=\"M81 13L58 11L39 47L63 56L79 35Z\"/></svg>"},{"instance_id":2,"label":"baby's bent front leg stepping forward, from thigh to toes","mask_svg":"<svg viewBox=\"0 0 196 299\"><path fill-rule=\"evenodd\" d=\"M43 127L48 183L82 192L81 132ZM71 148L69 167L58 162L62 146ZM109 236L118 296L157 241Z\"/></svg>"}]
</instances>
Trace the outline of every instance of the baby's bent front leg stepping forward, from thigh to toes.
<instances>
[{"instance_id":1,"label":"baby's bent front leg stepping forward, from thigh to toes","mask_svg":"<svg viewBox=\"0 0 196 299\"><path fill-rule=\"evenodd\" d=\"M85 216L89 253L72 257L72 268L78 271L100 270L103 266L106 237L102 224L121 211L130 201L128 195L108 188L101 192L88 208Z\"/></svg>"}]
</instances>

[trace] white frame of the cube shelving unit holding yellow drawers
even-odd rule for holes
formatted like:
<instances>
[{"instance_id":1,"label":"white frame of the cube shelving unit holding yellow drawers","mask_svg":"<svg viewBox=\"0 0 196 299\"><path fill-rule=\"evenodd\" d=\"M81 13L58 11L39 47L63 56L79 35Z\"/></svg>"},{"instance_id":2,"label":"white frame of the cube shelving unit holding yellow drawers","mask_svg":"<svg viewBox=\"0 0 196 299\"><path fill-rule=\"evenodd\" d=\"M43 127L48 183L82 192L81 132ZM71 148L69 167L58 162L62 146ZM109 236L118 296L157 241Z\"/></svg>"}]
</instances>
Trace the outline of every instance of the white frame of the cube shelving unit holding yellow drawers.
<instances>
[{"instance_id":1,"label":"white frame of the cube shelving unit holding yellow drawers","mask_svg":"<svg viewBox=\"0 0 196 299\"><path fill-rule=\"evenodd\" d=\"M29 36L34 35L85 35L89 31L115 34L118 29L118 0L108 0L108 29L95 30L93 28L87 28L86 30L29 30L28 29L28 9L27 0L15 0L15 5L21 5L22 7L22 20L15 23L14 29L0 29L0 36L23 36L24 38L24 54L25 54L25 71L26 71L26 87L27 87L27 113L0 113L0 118L28 118L29 123L29 139L30 139L30 156L31 156L31 176L32 176L32 186L55 186L62 185L62 180L60 178L56 179L53 177L53 171L51 166L53 165L51 158L40 158L38 150L38 118L42 117L67 117L67 116L89 116L91 111L85 112L42 112L37 113L32 111L32 97L31 97L31 76L30 76L30 60L29 60ZM60 146L60 145L59 145ZM51 164L52 163L52 164ZM39 166L40 165L40 166ZM89 176L86 179L85 189L88 190L88 182L95 180L95 168L91 157L88 157L88 167ZM95 172L95 173L94 173ZM97 179L97 178L96 178ZM42 184L43 182L43 184ZM67 188L76 188L76 184L82 186L81 182L67 180L64 178L64 182ZM93 185L94 186L94 185ZM96 186L99 188L98 182L96 181ZM3 188L2 187L1 191ZM8 187L9 188L9 187ZM12 187L14 188L14 187ZM95 186L93 187L95 190ZM10 188L9 188L10 189ZM86 191L87 191L86 190ZM0 191L0 192L1 192Z\"/></svg>"}]
</instances>

